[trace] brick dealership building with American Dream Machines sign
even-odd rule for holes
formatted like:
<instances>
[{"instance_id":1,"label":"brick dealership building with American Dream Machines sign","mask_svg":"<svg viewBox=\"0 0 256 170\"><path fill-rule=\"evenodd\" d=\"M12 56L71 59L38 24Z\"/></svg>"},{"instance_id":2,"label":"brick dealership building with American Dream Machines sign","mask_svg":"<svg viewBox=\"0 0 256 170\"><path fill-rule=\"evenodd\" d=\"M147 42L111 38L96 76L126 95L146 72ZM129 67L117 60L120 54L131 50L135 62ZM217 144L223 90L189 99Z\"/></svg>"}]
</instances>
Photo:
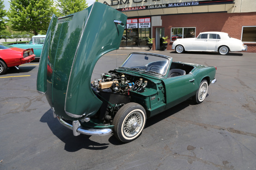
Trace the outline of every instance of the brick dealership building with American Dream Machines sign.
<instances>
[{"instance_id":1,"label":"brick dealership building with American Dream Machines sign","mask_svg":"<svg viewBox=\"0 0 256 170\"><path fill-rule=\"evenodd\" d=\"M177 38L197 37L200 32L226 32L256 52L255 0L99 0L128 16L120 48L167 50Z\"/></svg>"}]
</instances>

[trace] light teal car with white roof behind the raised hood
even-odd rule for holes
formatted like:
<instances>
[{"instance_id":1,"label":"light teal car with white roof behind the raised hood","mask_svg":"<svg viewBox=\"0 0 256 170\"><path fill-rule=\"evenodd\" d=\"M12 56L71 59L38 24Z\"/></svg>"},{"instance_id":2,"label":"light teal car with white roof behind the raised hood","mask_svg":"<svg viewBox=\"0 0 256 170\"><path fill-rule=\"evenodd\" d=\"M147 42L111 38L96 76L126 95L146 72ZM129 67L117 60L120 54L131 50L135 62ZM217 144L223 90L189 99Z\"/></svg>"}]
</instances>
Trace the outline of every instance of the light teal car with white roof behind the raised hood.
<instances>
[{"instance_id":1,"label":"light teal car with white roof behind the raised hood","mask_svg":"<svg viewBox=\"0 0 256 170\"><path fill-rule=\"evenodd\" d=\"M35 58L40 58L46 35L35 35L28 43L9 44L17 48L33 48Z\"/></svg>"}]
</instances>

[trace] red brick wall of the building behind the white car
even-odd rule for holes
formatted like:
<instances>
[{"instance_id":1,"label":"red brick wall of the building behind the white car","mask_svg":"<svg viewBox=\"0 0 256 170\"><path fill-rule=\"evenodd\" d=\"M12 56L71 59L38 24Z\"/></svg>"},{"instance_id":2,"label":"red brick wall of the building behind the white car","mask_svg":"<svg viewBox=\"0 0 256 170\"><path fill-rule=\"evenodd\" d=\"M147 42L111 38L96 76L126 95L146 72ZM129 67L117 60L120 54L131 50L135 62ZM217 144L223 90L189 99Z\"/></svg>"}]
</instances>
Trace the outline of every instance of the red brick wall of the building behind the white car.
<instances>
[{"instance_id":1,"label":"red brick wall of the building behind the white car","mask_svg":"<svg viewBox=\"0 0 256 170\"><path fill-rule=\"evenodd\" d=\"M196 36L200 32L220 31L226 32L230 37L241 40L242 26L256 26L256 12L248 13L200 13L200 14L175 14L161 16L162 26L165 28L165 36L169 37L170 42L172 27L195 27ZM155 38L157 27L152 28ZM256 43L246 43L247 52L256 52ZM155 43L153 50L155 49ZM169 43L167 50L172 50L172 42Z\"/></svg>"}]
</instances>

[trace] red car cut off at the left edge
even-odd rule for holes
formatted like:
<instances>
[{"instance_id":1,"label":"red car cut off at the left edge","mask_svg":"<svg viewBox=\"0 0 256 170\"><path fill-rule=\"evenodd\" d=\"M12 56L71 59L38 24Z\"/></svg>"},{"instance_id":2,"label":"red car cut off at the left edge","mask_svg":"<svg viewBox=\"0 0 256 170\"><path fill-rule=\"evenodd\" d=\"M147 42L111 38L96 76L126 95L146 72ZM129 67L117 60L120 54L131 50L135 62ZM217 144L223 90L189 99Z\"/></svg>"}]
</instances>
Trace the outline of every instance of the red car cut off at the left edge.
<instances>
[{"instance_id":1,"label":"red car cut off at the left edge","mask_svg":"<svg viewBox=\"0 0 256 170\"><path fill-rule=\"evenodd\" d=\"M17 67L34 59L33 48L22 49L0 43L0 75L5 74L7 68Z\"/></svg>"}]
</instances>

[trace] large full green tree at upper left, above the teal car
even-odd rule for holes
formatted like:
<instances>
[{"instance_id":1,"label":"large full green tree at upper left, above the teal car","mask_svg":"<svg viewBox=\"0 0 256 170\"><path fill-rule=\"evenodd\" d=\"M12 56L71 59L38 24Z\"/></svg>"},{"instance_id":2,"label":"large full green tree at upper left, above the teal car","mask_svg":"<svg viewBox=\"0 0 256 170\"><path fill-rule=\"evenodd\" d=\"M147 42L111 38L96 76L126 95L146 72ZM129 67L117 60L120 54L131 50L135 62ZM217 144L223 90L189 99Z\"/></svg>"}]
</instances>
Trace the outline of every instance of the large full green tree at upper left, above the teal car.
<instances>
[{"instance_id":1,"label":"large full green tree at upper left, above the teal car","mask_svg":"<svg viewBox=\"0 0 256 170\"><path fill-rule=\"evenodd\" d=\"M47 31L52 14L56 11L53 0L11 0L7 12L9 25L14 31L27 31L38 35Z\"/></svg>"}]
</instances>

